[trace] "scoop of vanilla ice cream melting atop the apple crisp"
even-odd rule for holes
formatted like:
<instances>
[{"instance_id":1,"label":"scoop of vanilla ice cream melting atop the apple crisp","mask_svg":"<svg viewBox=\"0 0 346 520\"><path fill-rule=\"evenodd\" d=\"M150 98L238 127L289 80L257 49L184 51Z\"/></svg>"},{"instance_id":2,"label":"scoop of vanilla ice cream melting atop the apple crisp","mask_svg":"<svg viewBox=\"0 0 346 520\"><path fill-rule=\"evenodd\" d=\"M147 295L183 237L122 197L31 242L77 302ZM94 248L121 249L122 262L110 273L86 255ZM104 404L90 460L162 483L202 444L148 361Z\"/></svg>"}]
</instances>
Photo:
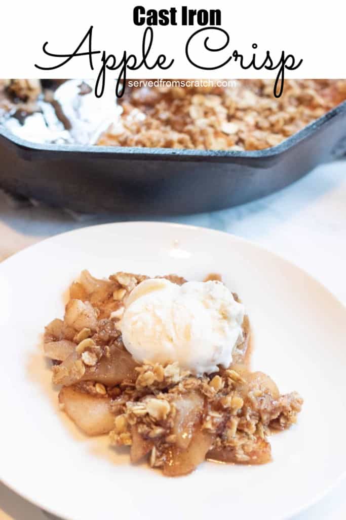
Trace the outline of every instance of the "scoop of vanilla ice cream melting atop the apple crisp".
<instances>
[{"instance_id":1,"label":"scoop of vanilla ice cream melting atop the apple crisp","mask_svg":"<svg viewBox=\"0 0 346 520\"><path fill-rule=\"evenodd\" d=\"M122 341L136 361L179 366L201 375L228 367L242 338L244 306L218 281L163 278L141 282L130 293L121 320Z\"/></svg>"}]
</instances>

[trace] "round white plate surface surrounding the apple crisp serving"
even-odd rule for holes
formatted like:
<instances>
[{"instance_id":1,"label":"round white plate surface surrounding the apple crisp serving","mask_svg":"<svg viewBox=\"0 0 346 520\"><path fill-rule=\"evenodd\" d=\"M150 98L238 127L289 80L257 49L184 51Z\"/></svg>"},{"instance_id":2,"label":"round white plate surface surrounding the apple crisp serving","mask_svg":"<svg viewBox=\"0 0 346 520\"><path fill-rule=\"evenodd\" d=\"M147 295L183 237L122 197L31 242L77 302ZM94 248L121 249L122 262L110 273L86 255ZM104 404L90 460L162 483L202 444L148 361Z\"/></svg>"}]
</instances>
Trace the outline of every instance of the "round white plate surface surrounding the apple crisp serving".
<instances>
[{"instance_id":1,"label":"round white plate surface surrounding the apple crisp serving","mask_svg":"<svg viewBox=\"0 0 346 520\"><path fill-rule=\"evenodd\" d=\"M83 268L220 272L250 315L252 366L281 392L305 398L298 424L271 437L263 466L203 463L169 479L133 466L106 437L89 439L59 411L41 354L44 325L63 314L63 293ZM305 272L216 231L159 223L85 228L41 242L0 265L0 478L71 520L287 518L320 498L346 467L346 310Z\"/></svg>"}]
</instances>

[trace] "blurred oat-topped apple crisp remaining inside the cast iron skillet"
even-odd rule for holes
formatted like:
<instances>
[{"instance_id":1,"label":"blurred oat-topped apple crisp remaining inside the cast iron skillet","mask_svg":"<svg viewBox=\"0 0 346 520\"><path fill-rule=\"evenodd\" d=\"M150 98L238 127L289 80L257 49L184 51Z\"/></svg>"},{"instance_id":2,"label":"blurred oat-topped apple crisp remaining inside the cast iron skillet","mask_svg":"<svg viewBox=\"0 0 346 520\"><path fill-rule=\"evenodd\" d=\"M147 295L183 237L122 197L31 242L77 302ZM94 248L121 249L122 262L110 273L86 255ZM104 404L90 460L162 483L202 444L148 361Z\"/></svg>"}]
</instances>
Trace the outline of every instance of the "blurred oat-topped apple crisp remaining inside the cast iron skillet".
<instances>
[{"instance_id":1,"label":"blurred oat-topped apple crisp remaining inside the cast iron skillet","mask_svg":"<svg viewBox=\"0 0 346 520\"><path fill-rule=\"evenodd\" d=\"M236 87L127 87L102 146L261 150L278 145L346 99L346 80L238 80Z\"/></svg>"}]
</instances>

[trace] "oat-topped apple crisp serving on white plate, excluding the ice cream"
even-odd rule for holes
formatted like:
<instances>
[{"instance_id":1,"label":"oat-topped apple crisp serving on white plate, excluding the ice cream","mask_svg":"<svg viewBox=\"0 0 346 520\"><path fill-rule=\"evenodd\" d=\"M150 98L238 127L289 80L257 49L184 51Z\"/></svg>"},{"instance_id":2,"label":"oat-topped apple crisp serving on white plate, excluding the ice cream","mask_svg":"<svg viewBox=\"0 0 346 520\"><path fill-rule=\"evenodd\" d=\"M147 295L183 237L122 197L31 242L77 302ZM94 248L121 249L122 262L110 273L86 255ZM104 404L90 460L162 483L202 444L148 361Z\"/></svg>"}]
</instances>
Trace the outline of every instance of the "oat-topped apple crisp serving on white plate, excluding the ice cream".
<instances>
[{"instance_id":1,"label":"oat-topped apple crisp serving on white plate, excluding the ice cream","mask_svg":"<svg viewBox=\"0 0 346 520\"><path fill-rule=\"evenodd\" d=\"M64 319L49 323L44 336L61 408L87 435L109 434L112 445L129 446L133 463L146 458L164 475L190 473L205 459L269 462L271 431L296 422L302 398L281 395L268 375L250 370L246 315L227 368L195 375L178 362L133 359L121 319L127 298L147 278L117 272L99 280L82 271L71 285ZM157 278L186 283L176 275Z\"/></svg>"}]
</instances>

